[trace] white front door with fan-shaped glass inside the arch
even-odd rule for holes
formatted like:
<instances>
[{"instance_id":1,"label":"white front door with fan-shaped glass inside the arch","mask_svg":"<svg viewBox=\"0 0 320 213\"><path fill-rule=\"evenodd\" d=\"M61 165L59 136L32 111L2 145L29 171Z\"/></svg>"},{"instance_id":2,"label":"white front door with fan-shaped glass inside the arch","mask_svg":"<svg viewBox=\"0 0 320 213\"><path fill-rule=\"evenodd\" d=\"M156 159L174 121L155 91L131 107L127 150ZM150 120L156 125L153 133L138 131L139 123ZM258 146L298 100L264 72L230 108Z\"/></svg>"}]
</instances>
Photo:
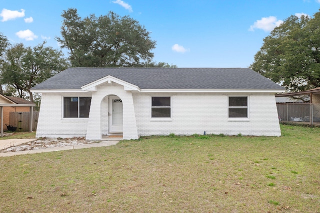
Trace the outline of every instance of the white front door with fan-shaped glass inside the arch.
<instances>
[{"instance_id":1,"label":"white front door with fan-shaped glass inside the arch","mask_svg":"<svg viewBox=\"0 0 320 213\"><path fill-rule=\"evenodd\" d=\"M109 97L109 133L122 133L123 105L119 97Z\"/></svg>"}]
</instances>

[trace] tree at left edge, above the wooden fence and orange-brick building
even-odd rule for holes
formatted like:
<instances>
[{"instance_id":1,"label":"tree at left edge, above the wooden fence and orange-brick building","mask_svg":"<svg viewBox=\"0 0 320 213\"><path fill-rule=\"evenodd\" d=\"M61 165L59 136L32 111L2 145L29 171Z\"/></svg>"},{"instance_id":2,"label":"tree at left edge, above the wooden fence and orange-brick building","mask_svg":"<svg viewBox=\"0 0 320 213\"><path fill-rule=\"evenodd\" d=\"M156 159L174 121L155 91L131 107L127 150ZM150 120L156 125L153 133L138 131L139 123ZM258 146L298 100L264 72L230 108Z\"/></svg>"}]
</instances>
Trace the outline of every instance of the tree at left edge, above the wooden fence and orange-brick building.
<instances>
[{"instance_id":1,"label":"tree at left edge, above the wooden fence and orange-brick building","mask_svg":"<svg viewBox=\"0 0 320 213\"><path fill-rule=\"evenodd\" d=\"M9 47L1 63L0 83L12 85L21 98L23 91L27 92L30 101L33 101L31 87L64 70L68 65L61 51L44 44L45 42L31 48L18 43Z\"/></svg>"}]
</instances>

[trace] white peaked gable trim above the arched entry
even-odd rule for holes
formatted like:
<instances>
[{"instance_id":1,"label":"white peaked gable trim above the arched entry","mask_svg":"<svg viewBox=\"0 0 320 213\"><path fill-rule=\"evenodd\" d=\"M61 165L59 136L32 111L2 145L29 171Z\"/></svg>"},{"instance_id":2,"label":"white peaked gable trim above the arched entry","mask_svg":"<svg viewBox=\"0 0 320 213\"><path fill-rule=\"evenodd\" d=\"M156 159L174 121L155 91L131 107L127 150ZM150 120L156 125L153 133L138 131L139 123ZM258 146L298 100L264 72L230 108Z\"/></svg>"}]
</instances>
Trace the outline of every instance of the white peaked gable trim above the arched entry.
<instances>
[{"instance_id":1,"label":"white peaked gable trim above the arched entry","mask_svg":"<svg viewBox=\"0 0 320 213\"><path fill-rule=\"evenodd\" d=\"M103 78L100 78L96 81L93 81L91 83L88 83L84 86L81 86L81 90L83 91L97 91L97 86L103 84L103 83L108 83L110 84L111 82L114 82L114 83L117 83L117 84L120 84L124 87L124 90L125 91L140 91L140 88L134 84L131 84L131 83L128 83L126 81L123 81L119 78L115 78L111 75L107 75Z\"/></svg>"}]
</instances>

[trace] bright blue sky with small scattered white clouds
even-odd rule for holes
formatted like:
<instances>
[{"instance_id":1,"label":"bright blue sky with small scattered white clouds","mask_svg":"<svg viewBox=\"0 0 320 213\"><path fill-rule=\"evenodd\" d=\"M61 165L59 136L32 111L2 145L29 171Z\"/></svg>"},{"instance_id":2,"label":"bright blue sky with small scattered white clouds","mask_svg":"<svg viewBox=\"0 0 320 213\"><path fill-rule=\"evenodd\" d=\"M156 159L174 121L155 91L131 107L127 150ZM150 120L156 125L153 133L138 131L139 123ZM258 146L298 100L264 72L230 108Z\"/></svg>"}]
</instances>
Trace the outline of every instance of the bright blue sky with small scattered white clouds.
<instances>
[{"instance_id":1,"label":"bright blue sky with small scattered white clouds","mask_svg":"<svg viewBox=\"0 0 320 213\"><path fill-rule=\"evenodd\" d=\"M82 18L114 11L139 21L156 41L156 62L248 67L274 26L290 15L312 16L320 0L0 0L0 32L12 44L46 40L59 48L54 37L68 8Z\"/></svg>"}]
</instances>

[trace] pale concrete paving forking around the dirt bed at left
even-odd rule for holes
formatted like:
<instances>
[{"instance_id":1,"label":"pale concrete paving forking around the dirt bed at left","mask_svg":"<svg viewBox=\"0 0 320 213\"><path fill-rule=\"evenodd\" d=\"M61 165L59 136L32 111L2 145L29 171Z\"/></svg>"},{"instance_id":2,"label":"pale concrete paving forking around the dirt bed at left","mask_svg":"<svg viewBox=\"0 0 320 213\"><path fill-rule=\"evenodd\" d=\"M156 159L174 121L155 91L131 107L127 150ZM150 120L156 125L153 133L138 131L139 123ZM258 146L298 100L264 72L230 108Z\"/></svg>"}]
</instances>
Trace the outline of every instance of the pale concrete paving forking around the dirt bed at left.
<instances>
[{"instance_id":1,"label":"pale concrete paving forking around the dirt bed at left","mask_svg":"<svg viewBox=\"0 0 320 213\"><path fill-rule=\"evenodd\" d=\"M0 150L5 149L10 146L17 146L23 143L27 143L30 141L34 141L37 139L8 139L8 140L0 140ZM0 153L0 157L9 157L15 155L25 155L25 154L34 154L34 153L43 153L43 152L55 152L55 151L63 151L63 150L71 150L71 149L83 149L83 148L91 148L91 147L106 147L116 145L119 141L111 140L111 141L101 141L99 143L91 143L91 144L80 144L80 145L70 145L64 147L52 147L52 148L43 148L43 149L35 149L35 150L26 150L19 152L5 152Z\"/></svg>"}]
</instances>

